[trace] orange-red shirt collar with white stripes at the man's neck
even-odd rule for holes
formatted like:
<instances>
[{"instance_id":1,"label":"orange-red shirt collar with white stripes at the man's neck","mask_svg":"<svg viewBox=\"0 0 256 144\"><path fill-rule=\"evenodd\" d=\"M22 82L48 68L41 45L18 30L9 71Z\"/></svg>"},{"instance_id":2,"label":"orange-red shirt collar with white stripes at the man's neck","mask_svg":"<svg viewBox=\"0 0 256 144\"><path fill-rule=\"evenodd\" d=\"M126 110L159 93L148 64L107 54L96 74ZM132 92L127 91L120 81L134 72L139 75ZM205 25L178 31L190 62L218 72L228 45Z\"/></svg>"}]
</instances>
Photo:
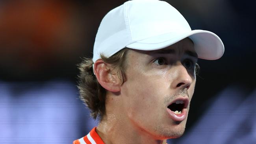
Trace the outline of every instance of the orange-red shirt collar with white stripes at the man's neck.
<instances>
[{"instance_id":1,"label":"orange-red shirt collar with white stripes at the man's neck","mask_svg":"<svg viewBox=\"0 0 256 144\"><path fill-rule=\"evenodd\" d=\"M96 133L96 127L94 127L86 136L74 140L73 144L104 144L104 142Z\"/></svg>"}]
</instances>

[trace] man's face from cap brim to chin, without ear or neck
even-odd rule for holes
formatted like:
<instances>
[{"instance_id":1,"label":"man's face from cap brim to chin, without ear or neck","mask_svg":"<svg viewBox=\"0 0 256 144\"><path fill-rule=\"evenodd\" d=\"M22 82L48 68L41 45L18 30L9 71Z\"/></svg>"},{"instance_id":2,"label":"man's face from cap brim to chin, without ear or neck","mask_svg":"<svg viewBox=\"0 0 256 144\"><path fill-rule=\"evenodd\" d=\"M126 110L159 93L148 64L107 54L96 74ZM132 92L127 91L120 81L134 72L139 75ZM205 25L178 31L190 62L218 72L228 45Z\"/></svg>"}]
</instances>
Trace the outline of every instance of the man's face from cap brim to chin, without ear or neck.
<instances>
[{"instance_id":1,"label":"man's face from cap brim to chin, without ear or neck","mask_svg":"<svg viewBox=\"0 0 256 144\"><path fill-rule=\"evenodd\" d=\"M184 133L196 62L197 54L188 38L161 50L127 53L121 95L124 114L136 129L161 139Z\"/></svg>"}]
</instances>

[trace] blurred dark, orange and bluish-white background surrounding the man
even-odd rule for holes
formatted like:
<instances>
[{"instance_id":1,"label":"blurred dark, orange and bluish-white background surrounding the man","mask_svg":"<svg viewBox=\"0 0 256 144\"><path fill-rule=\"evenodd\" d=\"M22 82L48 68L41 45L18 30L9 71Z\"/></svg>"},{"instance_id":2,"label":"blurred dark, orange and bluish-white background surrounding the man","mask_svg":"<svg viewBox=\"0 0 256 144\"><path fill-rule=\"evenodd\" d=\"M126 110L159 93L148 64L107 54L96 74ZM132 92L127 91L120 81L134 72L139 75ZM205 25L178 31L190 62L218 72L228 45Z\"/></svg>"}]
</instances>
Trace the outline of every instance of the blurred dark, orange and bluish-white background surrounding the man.
<instances>
[{"instance_id":1,"label":"blurred dark, orange and bluish-white background surrounding the man","mask_svg":"<svg viewBox=\"0 0 256 144\"><path fill-rule=\"evenodd\" d=\"M125 0L0 1L0 143L72 143L97 122L78 99L104 15ZM166 0L225 53L199 60L185 134L169 144L256 143L256 1Z\"/></svg>"}]
</instances>

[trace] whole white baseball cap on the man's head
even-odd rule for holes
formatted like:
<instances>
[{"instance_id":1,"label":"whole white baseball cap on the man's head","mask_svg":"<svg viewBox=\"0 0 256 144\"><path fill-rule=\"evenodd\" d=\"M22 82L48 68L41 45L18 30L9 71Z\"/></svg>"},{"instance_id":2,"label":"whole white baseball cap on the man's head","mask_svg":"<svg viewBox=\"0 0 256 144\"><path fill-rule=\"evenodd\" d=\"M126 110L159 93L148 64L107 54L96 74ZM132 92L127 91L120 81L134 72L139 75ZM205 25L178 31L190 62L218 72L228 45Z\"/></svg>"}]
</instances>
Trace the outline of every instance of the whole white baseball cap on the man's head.
<instances>
[{"instance_id":1,"label":"whole white baseball cap on the man's head","mask_svg":"<svg viewBox=\"0 0 256 144\"><path fill-rule=\"evenodd\" d=\"M198 58L215 60L224 53L221 39L210 31L191 30L187 20L160 0L130 0L109 11L95 38L93 62L123 48L159 50L186 37L194 42Z\"/></svg>"}]
</instances>

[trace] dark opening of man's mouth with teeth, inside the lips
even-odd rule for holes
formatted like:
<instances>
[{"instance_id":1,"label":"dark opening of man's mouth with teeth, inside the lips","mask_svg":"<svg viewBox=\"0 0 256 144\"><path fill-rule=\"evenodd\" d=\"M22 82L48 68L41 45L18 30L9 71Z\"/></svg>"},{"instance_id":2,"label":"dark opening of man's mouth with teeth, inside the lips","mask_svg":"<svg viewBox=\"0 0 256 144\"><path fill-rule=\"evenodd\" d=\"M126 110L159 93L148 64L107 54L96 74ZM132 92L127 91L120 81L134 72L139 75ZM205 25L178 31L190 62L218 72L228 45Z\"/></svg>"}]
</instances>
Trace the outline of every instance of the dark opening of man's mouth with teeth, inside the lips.
<instances>
[{"instance_id":1,"label":"dark opening of man's mouth with teeth, inside the lips","mask_svg":"<svg viewBox=\"0 0 256 144\"><path fill-rule=\"evenodd\" d=\"M187 107L186 100L176 100L167 108L173 111L175 114L181 114L182 110Z\"/></svg>"}]
</instances>

